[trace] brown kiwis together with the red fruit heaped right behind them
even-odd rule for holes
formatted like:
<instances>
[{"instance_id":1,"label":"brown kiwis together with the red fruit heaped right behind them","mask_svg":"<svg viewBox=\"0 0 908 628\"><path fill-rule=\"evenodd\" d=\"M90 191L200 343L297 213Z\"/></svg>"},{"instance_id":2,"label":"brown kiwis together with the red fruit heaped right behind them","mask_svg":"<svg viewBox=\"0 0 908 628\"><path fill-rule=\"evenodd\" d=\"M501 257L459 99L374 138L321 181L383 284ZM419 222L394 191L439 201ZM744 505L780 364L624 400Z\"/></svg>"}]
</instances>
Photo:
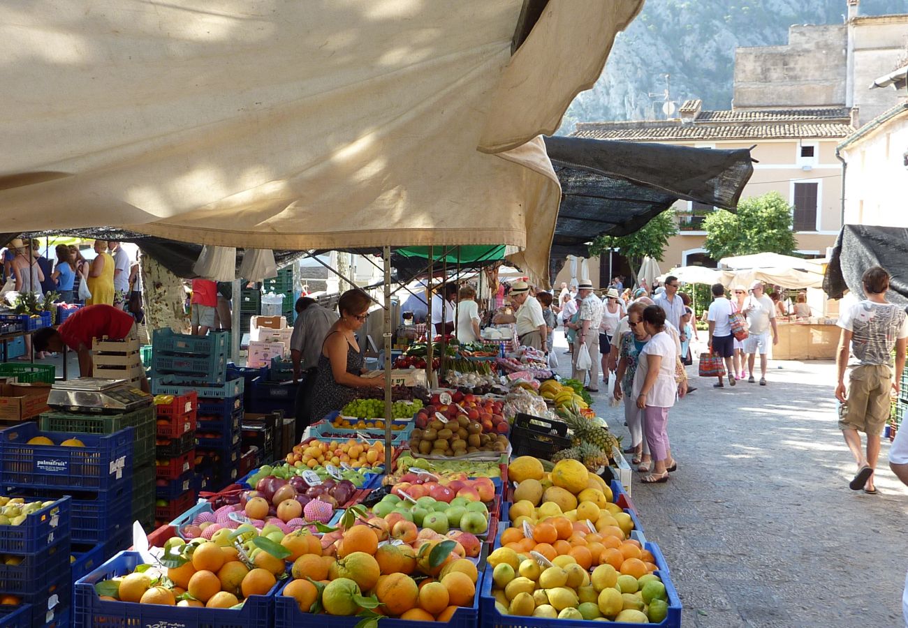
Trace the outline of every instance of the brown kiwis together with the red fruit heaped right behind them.
<instances>
[{"instance_id":1,"label":"brown kiwis together with the red fruit heaped right behind them","mask_svg":"<svg viewBox=\"0 0 908 628\"><path fill-rule=\"evenodd\" d=\"M459 395L455 393L452 398ZM433 397L433 401L438 397ZM440 403L440 401L439 401ZM510 431L502 403L463 395L460 402L429 406L416 415L410 451L422 456L466 456L474 452L508 450Z\"/></svg>"}]
</instances>

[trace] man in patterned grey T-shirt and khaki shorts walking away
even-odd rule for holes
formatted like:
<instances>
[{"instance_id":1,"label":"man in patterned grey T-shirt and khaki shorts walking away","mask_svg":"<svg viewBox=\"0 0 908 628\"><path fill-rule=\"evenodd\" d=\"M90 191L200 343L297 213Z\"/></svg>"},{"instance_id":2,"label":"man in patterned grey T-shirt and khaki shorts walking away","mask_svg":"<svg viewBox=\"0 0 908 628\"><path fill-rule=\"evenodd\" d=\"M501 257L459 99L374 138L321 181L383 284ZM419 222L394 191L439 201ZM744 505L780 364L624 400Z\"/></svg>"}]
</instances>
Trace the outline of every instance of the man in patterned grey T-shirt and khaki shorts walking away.
<instances>
[{"instance_id":1,"label":"man in patterned grey T-shirt and khaki shorts walking away","mask_svg":"<svg viewBox=\"0 0 908 628\"><path fill-rule=\"evenodd\" d=\"M889 418L890 390L899 393L899 375L905 366L905 346L908 344L908 317L904 309L886 301L889 273L874 266L862 278L866 299L844 311L838 325L842 328L835 356L838 385L835 397L839 400L839 428L845 443L857 463L857 475L849 486L854 491L876 494L873 470L880 455L880 435ZM845 392L845 368L849 366L849 345L854 361ZM895 375L892 353L895 348ZM861 436L867 435L866 456L861 448Z\"/></svg>"}]
</instances>

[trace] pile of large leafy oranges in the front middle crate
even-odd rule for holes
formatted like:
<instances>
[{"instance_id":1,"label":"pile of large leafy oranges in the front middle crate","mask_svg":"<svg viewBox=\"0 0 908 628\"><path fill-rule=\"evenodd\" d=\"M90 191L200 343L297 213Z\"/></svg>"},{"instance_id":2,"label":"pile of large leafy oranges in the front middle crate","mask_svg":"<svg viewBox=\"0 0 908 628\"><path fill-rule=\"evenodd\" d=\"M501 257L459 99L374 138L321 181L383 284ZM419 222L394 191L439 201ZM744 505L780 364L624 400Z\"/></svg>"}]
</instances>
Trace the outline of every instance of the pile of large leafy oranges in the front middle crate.
<instances>
[{"instance_id":1,"label":"pile of large leafy oranges in the front middle crate","mask_svg":"<svg viewBox=\"0 0 908 628\"><path fill-rule=\"evenodd\" d=\"M390 537L383 520L349 513L340 531L322 537L321 553L293 562L280 595L302 613L448 622L473 604L479 572L457 541L429 529L403 541Z\"/></svg>"}]
</instances>

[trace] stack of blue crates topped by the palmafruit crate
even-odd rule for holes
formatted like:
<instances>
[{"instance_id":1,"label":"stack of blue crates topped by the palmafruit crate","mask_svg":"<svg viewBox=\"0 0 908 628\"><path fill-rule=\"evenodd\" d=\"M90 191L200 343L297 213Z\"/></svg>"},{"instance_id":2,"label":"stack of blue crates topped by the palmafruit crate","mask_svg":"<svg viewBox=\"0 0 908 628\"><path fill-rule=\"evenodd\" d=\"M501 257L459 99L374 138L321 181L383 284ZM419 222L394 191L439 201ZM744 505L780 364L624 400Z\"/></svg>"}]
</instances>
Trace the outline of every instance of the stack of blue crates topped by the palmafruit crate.
<instances>
[{"instance_id":1,"label":"stack of blue crates topped by the palmafruit crate","mask_svg":"<svg viewBox=\"0 0 908 628\"><path fill-rule=\"evenodd\" d=\"M0 431L0 484L9 495L27 499L71 496L72 544L102 545L105 556L113 555L132 545L135 431L123 427L112 434L45 432L35 423L9 427ZM43 438L29 445L39 437ZM69 564L68 549L66 556ZM53 584L52 573L44 577Z\"/></svg>"}]
</instances>

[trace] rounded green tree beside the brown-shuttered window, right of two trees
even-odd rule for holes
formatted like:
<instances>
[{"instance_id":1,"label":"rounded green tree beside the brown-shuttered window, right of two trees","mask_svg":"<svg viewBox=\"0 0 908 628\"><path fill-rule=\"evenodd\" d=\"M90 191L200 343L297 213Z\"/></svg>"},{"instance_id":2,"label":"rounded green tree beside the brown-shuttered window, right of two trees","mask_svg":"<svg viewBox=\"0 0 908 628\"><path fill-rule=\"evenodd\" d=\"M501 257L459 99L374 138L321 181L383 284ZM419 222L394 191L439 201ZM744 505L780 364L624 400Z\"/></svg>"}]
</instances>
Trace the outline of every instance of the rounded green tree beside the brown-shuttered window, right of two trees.
<instances>
[{"instance_id":1,"label":"rounded green tree beside the brown-shuttered window, right of two trees","mask_svg":"<svg viewBox=\"0 0 908 628\"><path fill-rule=\"evenodd\" d=\"M719 210L706 216L703 248L714 260L751 253L791 255L796 245L793 212L777 191L745 199L736 213Z\"/></svg>"}]
</instances>

